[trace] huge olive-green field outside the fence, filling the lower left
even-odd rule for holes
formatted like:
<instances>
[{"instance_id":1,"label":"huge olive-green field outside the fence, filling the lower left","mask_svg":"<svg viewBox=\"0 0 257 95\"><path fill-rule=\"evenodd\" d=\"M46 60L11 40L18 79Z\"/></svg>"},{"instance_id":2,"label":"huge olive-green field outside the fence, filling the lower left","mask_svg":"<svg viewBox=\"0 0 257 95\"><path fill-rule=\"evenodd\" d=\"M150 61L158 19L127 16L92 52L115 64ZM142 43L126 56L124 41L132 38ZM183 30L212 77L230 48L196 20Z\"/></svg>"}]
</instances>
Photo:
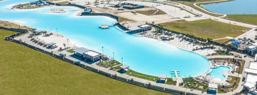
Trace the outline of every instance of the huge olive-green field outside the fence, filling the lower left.
<instances>
[{"instance_id":1,"label":"huge olive-green field outside the fence, filling the lower left","mask_svg":"<svg viewBox=\"0 0 257 95\"><path fill-rule=\"evenodd\" d=\"M0 95L161 95L50 57L4 37L0 30Z\"/></svg>"}]
</instances>

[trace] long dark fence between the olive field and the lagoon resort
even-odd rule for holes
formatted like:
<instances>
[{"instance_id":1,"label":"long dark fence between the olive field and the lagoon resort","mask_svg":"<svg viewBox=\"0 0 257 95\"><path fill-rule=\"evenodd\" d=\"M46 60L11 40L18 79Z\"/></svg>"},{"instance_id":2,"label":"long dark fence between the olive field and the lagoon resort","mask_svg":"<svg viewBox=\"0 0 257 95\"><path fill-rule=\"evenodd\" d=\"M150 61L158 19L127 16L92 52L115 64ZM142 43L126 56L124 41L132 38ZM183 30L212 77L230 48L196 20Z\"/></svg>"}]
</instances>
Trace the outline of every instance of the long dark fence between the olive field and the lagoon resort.
<instances>
[{"instance_id":1,"label":"long dark fence between the olive field and the lagoon resort","mask_svg":"<svg viewBox=\"0 0 257 95\"><path fill-rule=\"evenodd\" d=\"M18 33L18 35L20 35L20 33ZM9 36L8 36L8 37L9 37ZM27 43L25 43L25 42L22 42L22 41L19 41L19 40L15 40L15 39L13 39L13 38L12 38L12 39L7 39L7 37L5 37L5 40L13 41L13 42L19 43L19 44L21 44L21 45L24 45L24 46L27 46L27 47L29 47L29 48L35 49L35 50L37 50L37 51L39 51L39 52L42 52L42 53L45 53L45 54L47 54L47 55L53 56L53 57L58 58L58 59L60 59L60 60L65 60L66 62L69 62L69 63L71 63L71 64L75 64L75 65L77 65L77 66L79 66L79 67L92 70L92 71L94 71L94 72L96 72L96 73L99 72L99 73L102 74L102 75L109 76L109 77L113 77L113 78L118 79L118 80L121 80L121 81L123 81L123 82L130 82L130 83L135 84L135 85L138 85L138 86L147 86L147 87L149 87L150 89L161 90L161 91L165 91L165 92L169 92L169 93L185 94L184 91L178 91L178 90L172 90L172 89L168 89L168 88L164 88L164 87L160 87L160 86L148 85L148 84L146 84L146 83L137 82L137 81L132 81L132 80L130 80L130 79L122 78L122 77L120 77L120 76L115 76L115 75L112 75L112 74L110 74L110 73L107 73L107 72L104 72L104 71L100 71L100 70L98 70L98 69L96 69L96 68L92 68L92 67L87 66L87 65L85 65L85 64L80 64L80 63L78 63L78 62L76 62L76 61L73 61L73 60L70 60L70 59L68 59L68 58L59 56L59 55L57 55L57 54L48 52L48 51L46 51L46 50L37 48L37 47L32 46L32 45L29 45L29 44L27 44ZM193 94L193 93L186 93L186 94L187 94L187 95L197 95L197 94Z\"/></svg>"}]
</instances>

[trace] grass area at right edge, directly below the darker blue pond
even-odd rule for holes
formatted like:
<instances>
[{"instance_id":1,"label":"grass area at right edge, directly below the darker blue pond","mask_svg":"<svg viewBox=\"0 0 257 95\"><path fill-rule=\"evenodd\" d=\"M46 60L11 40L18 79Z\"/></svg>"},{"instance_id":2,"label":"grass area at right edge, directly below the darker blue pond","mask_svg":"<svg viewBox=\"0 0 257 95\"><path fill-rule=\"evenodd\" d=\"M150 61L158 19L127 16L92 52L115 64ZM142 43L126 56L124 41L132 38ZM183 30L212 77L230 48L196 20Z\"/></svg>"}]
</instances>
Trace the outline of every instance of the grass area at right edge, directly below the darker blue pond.
<instances>
[{"instance_id":1,"label":"grass area at right edge, directly below the darker blue pond","mask_svg":"<svg viewBox=\"0 0 257 95\"><path fill-rule=\"evenodd\" d=\"M257 15L227 15L223 18L227 20L231 19L232 21L242 22L246 24L257 25Z\"/></svg>"}]
</instances>

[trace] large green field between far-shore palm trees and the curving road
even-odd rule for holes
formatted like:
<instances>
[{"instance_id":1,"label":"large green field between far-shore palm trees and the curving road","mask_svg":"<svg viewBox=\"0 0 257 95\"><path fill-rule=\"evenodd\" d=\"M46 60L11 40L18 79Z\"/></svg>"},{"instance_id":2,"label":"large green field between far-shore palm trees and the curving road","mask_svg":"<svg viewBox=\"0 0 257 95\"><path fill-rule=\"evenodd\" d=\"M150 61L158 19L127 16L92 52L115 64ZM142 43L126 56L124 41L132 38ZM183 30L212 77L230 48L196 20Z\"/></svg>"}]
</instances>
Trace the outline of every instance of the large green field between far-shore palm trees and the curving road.
<instances>
[{"instance_id":1,"label":"large green field between far-shore palm trees and the curving road","mask_svg":"<svg viewBox=\"0 0 257 95\"><path fill-rule=\"evenodd\" d=\"M172 31L181 32L184 34L195 35L200 38L225 38L237 37L244 33L244 31L251 29L248 27L242 27L233 24L226 24L223 22L205 19L205 20L196 20L196 21L186 21L186 20L177 20L174 22L161 23L164 28L167 28Z\"/></svg>"}]
</instances>

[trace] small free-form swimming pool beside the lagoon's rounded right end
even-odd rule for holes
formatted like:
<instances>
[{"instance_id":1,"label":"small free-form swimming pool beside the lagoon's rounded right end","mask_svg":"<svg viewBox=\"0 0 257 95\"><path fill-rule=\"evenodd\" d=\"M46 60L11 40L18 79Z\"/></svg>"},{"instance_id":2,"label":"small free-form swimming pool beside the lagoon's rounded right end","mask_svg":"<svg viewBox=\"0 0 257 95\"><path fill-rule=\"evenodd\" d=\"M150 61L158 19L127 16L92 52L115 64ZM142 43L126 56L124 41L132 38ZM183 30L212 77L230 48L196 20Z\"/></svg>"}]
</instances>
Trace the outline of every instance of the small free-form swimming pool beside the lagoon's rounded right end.
<instances>
[{"instance_id":1,"label":"small free-form swimming pool beside the lagoon's rounded right end","mask_svg":"<svg viewBox=\"0 0 257 95\"><path fill-rule=\"evenodd\" d=\"M219 67L213 68L212 71L210 71L210 75L213 79L223 80L223 79L225 79L225 75L223 75L223 72L229 71L229 70L230 70L230 68L227 66L219 66Z\"/></svg>"}]
</instances>

